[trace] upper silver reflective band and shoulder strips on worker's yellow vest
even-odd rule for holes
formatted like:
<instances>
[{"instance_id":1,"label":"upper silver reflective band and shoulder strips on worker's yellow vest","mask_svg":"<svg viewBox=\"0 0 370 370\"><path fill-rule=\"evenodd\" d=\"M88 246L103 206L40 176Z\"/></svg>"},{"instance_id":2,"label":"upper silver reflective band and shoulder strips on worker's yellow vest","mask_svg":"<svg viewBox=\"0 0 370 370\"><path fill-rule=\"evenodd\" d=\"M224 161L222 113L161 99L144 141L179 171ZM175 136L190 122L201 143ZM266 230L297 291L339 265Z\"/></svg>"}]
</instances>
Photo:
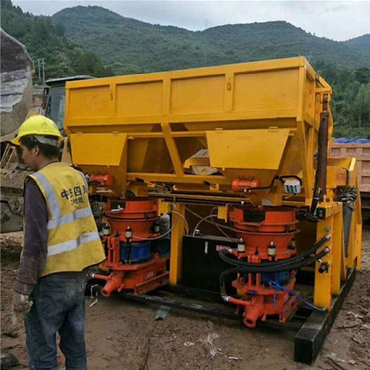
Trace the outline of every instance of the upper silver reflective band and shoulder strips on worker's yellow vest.
<instances>
[{"instance_id":1,"label":"upper silver reflective band and shoulder strips on worker's yellow vest","mask_svg":"<svg viewBox=\"0 0 370 370\"><path fill-rule=\"evenodd\" d=\"M86 178L83 176L82 173L80 174L84 183L86 184ZM53 216L53 219L49 220L49 222L47 223L48 230L55 229L56 227L66 225L67 223L70 222L74 222L77 219L82 219L84 217L92 215L91 207L88 206L61 216L58 198L55 195L53 186L50 184L49 180L47 180L45 175L43 175L40 172L35 173L34 176L37 177L38 181L46 191L47 199L50 205L50 212Z\"/></svg>"}]
</instances>

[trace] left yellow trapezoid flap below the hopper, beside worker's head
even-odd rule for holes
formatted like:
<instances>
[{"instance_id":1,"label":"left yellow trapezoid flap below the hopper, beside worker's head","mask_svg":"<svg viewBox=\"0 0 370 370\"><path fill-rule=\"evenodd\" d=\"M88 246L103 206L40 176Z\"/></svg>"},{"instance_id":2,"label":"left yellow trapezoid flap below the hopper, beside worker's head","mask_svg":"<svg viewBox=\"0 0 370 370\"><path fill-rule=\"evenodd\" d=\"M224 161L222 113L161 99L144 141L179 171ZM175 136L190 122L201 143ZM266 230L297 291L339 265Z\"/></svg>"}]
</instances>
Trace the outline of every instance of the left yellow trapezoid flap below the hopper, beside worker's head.
<instances>
[{"instance_id":1,"label":"left yellow trapezoid flap below the hopper, beside worker's head","mask_svg":"<svg viewBox=\"0 0 370 370\"><path fill-rule=\"evenodd\" d=\"M78 165L119 166L127 134L72 134L72 160Z\"/></svg>"}]
</instances>

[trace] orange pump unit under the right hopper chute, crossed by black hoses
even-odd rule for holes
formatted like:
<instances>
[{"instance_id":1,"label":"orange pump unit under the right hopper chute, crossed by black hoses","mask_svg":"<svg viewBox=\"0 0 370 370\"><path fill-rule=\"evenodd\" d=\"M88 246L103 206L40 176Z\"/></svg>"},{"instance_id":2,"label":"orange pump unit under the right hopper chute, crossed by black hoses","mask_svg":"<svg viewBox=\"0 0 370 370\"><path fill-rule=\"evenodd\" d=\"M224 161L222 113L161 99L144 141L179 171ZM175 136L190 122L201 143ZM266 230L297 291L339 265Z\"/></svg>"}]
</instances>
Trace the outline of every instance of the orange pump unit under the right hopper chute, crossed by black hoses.
<instances>
[{"instance_id":1,"label":"orange pump unit under the right hopper chute, crossed by black hoses","mask_svg":"<svg viewBox=\"0 0 370 370\"><path fill-rule=\"evenodd\" d=\"M238 247L231 253L238 260L259 264L263 261L279 261L296 254L293 241L296 229L296 212L283 207L233 207L229 211L237 235ZM298 305L295 296L287 291L276 292L268 286L271 280L278 280L287 289L293 290L296 281L292 270L279 273L239 274L232 283L241 292L243 299L225 297L235 303L238 310L244 310L244 324L255 327L259 317L266 320L267 315L279 315L279 321L285 322Z\"/></svg>"}]
</instances>

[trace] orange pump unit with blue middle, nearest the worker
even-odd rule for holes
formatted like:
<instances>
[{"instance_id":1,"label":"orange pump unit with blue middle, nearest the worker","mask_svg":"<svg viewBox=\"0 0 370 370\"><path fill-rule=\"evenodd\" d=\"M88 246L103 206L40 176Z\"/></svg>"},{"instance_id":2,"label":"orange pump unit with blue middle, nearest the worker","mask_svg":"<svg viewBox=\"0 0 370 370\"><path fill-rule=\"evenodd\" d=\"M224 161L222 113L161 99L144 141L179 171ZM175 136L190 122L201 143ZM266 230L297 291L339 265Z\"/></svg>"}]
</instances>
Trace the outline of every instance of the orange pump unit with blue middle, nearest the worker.
<instances>
[{"instance_id":1,"label":"orange pump unit with blue middle, nearest the worker","mask_svg":"<svg viewBox=\"0 0 370 370\"><path fill-rule=\"evenodd\" d=\"M122 290L141 294L167 284L169 258L161 257L154 244L159 237L156 201L109 199L104 216L108 224L102 228L102 240L107 259L102 267L111 273L92 275L106 281L102 295Z\"/></svg>"}]
</instances>

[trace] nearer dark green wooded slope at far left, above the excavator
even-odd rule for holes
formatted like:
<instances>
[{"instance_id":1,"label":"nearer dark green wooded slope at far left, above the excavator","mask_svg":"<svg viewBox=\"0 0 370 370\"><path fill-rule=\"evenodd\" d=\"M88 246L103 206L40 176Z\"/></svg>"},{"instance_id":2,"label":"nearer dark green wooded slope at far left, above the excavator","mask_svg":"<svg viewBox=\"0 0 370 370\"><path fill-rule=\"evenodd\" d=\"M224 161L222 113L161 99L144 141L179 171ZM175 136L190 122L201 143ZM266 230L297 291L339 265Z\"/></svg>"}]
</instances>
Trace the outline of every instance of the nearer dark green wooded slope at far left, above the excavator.
<instances>
[{"instance_id":1,"label":"nearer dark green wooded slope at far left, above the excavator","mask_svg":"<svg viewBox=\"0 0 370 370\"><path fill-rule=\"evenodd\" d=\"M45 59L46 78L89 74L96 77L113 75L100 58L64 35L61 23L51 17L23 13L11 1L1 0L1 27L22 42L37 67L37 59ZM35 78L38 75L36 71Z\"/></svg>"}]
</instances>

